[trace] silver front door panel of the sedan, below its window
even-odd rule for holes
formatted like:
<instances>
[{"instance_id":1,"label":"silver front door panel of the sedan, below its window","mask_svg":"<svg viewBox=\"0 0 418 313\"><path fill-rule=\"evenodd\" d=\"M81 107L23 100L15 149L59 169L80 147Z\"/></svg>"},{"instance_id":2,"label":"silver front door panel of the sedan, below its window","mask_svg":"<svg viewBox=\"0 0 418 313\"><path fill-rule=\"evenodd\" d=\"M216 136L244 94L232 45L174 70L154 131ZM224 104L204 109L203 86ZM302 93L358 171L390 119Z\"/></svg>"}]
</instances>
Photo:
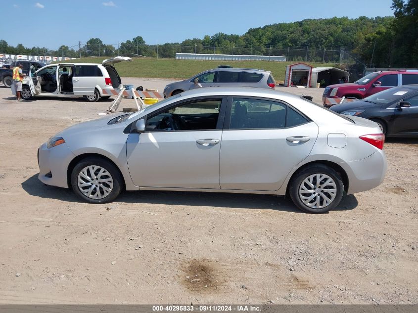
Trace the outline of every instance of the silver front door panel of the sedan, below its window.
<instances>
[{"instance_id":1,"label":"silver front door panel of the sedan, below its window","mask_svg":"<svg viewBox=\"0 0 418 313\"><path fill-rule=\"evenodd\" d=\"M131 178L141 187L219 189L222 131L150 132L129 134L127 157Z\"/></svg>"}]
</instances>

